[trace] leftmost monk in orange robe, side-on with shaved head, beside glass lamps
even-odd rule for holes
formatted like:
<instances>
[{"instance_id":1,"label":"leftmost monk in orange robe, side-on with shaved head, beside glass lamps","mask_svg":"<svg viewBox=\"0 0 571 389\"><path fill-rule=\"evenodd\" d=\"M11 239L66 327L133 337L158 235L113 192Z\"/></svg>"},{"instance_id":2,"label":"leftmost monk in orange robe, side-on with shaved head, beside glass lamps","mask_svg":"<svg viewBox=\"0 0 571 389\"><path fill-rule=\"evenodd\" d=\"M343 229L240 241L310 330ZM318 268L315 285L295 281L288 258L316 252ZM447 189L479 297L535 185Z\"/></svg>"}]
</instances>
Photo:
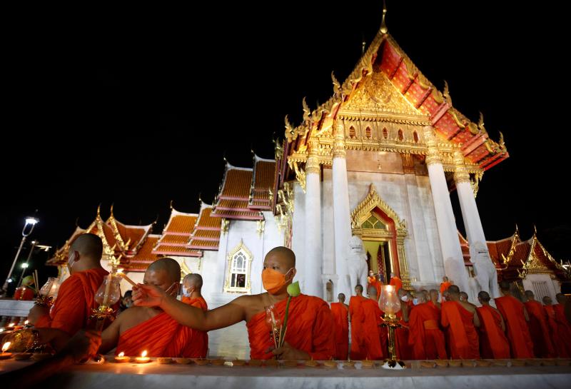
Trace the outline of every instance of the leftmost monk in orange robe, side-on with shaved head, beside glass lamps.
<instances>
[{"instance_id":1,"label":"leftmost monk in orange robe, side-on with shaved head, beside glass lamps","mask_svg":"<svg viewBox=\"0 0 571 389\"><path fill-rule=\"evenodd\" d=\"M51 311L34 305L28 315L29 322L36 328L57 328L69 335L86 328L91 309L98 306L95 293L108 275L101 267L102 253L103 243L95 234L84 233L76 238L68 254L71 276L61 283Z\"/></svg>"}]
</instances>

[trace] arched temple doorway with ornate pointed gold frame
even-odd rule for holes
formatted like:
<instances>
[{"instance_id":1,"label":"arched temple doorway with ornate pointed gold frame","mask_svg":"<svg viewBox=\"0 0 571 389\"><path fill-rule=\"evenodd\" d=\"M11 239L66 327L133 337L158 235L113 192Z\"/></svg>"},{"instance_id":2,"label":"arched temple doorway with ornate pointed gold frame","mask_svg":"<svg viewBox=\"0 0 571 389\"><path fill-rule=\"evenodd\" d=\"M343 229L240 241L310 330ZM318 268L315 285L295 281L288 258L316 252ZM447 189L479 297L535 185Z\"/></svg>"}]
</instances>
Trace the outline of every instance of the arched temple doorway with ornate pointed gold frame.
<instances>
[{"instance_id":1,"label":"arched temple doorway with ornate pointed gold frame","mask_svg":"<svg viewBox=\"0 0 571 389\"><path fill-rule=\"evenodd\" d=\"M368 253L369 270L379 273L387 283L393 271L406 288L410 286L405 257L405 221L378 196L373 183L369 193L351 213L353 235L359 236Z\"/></svg>"}]
</instances>

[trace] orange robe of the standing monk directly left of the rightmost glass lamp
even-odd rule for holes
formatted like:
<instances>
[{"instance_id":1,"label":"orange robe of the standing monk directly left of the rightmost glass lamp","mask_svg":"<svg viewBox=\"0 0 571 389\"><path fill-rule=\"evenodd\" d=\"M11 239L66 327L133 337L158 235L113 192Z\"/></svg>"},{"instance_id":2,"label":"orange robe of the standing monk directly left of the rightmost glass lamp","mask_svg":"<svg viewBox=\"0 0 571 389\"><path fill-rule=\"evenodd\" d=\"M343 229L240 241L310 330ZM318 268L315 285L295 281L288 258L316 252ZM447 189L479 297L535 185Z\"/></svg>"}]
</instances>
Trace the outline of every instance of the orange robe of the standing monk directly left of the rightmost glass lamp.
<instances>
[{"instance_id":1,"label":"orange robe of the standing monk directly left of the rightmost glass lamp","mask_svg":"<svg viewBox=\"0 0 571 389\"><path fill-rule=\"evenodd\" d=\"M383 324L383 311L380 310L377 301L370 298L361 304L365 313L363 328L365 330L365 359L378 360L384 359L387 355L387 334L386 328L381 327Z\"/></svg>"}]
</instances>

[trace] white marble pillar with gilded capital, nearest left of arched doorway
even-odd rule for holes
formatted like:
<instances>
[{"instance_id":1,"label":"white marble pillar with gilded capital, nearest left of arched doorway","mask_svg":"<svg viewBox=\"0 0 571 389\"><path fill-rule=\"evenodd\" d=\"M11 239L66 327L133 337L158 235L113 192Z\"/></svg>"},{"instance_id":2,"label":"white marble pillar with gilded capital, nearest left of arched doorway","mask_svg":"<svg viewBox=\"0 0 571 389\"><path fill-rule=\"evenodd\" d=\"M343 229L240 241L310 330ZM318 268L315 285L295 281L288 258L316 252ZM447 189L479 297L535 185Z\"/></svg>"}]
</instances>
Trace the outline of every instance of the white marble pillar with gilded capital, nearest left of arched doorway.
<instances>
[{"instance_id":1,"label":"white marble pillar with gilded capital, nearest left of arched doorway","mask_svg":"<svg viewBox=\"0 0 571 389\"><path fill-rule=\"evenodd\" d=\"M351 219L345 156L345 128L343 122L338 121L335 126L335 145L333 146L333 231L335 273L338 276L338 284L334 288L335 296L338 293L351 295L347 266Z\"/></svg>"}]
</instances>

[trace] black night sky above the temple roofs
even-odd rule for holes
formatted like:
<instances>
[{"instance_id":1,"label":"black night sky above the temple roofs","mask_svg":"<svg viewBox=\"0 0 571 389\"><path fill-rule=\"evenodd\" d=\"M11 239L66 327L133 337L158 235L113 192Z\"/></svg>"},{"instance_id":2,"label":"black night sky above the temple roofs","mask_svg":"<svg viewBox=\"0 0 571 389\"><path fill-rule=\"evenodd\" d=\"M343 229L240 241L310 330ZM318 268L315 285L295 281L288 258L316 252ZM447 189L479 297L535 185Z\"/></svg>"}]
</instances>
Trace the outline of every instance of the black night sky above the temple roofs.
<instances>
[{"instance_id":1,"label":"black night sky above the temple roofs","mask_svg":"<svg viewBox=\"0 0 571 389\"><path fill-rule=\"evenodd\" d=\"M456 108L473 121L482 111L490 136L505 136L510 158L485 173L477 197L487 238L515 223L528 238L535 223L556 258L571 258L568 21L560 2L498 3L389 1L387 24L433 84L448 81ZM31 238L61 246L98 203L103 217L115 203L124 223L158 215L158 233L171 200L194 212L199 192L211 202L224 153L236 166L251 166L251 148L271 158L283 116L298 123L303 96L315 108L332 94L330 71L345 79L382 14L380 1L137 7L9 15L2 281L36 209Z\"/></svg>"}]
</instances>

